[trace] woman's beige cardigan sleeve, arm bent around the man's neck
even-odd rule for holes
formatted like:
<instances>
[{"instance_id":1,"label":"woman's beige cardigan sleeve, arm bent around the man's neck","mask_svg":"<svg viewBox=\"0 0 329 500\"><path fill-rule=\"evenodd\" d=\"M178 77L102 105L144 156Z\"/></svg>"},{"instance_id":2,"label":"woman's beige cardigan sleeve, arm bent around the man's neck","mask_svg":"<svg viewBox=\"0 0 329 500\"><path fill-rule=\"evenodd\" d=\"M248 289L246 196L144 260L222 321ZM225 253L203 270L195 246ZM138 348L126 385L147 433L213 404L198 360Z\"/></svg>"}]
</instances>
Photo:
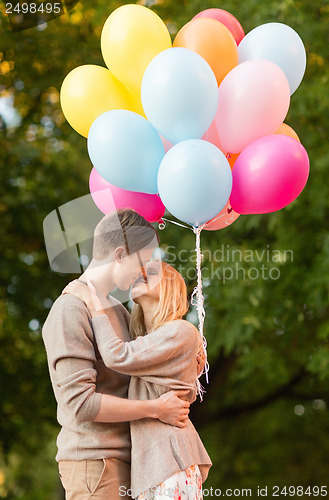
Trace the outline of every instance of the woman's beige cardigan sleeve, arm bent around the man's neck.
<instances>
[{"instance_id":1,"label":"woman's beige cardigan sleeve, arm bent around the man's neck","mask_svg":"<svg viewBox=\"0 0 329 500\"><path fill-rule=\"evenodd\" d=\"M106 314L94 316L92 325L104 364L127 375L165 376L166 366L191 350L197 351L198 338L187 321L166 323L155 331L124 342L115 333L115 322Z\"/></svg>"}]
</instances>

